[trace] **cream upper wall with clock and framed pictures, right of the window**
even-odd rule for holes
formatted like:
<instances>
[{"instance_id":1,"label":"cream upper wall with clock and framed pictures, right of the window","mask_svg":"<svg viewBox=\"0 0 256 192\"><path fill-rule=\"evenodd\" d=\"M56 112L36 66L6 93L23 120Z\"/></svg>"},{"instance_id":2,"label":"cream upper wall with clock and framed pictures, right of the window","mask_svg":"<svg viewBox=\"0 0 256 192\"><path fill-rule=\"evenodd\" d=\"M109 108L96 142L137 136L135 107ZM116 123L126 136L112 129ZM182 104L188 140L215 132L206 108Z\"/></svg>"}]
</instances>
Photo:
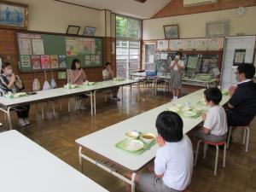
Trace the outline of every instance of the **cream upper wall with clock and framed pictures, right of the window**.
<instances>
[{"instance_id":1,"label":"cream upper wall with clock and framed pictures, right of the window","mask_svg":"<svg viewBox=\"0 0 256 192\"><path fill-rule=\"evenodd\" d=\"M216 20L229 20L229 35L256 34L256 6L247 7L246 15L237 17L236 9L226 9L207 13L179 15L158 19L143 20L143 40L165 38L163 26L177 24L180 38L203 38L206 36L206 23Z\"/></svg>"}]
</instances>

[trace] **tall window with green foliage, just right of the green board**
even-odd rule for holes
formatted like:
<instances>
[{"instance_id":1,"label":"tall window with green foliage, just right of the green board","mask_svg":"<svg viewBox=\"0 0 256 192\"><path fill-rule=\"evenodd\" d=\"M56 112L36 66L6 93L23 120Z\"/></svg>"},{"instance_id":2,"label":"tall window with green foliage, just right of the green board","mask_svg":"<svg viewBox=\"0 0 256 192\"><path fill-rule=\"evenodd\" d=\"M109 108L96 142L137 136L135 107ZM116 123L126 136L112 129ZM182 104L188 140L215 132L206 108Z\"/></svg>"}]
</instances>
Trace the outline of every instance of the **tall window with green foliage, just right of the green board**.
<instances>
[{"instance_id":1,"label":"tall window with green foliage, just right of the green board","mask_svg":"<svg viewBox=\"0 0 256 192\"><path fill-rule=\"evenodd\" d=\"M129 78L129 73L140 67L142 20L116 16L117 76Z\"/></svg>"}]
</instances>

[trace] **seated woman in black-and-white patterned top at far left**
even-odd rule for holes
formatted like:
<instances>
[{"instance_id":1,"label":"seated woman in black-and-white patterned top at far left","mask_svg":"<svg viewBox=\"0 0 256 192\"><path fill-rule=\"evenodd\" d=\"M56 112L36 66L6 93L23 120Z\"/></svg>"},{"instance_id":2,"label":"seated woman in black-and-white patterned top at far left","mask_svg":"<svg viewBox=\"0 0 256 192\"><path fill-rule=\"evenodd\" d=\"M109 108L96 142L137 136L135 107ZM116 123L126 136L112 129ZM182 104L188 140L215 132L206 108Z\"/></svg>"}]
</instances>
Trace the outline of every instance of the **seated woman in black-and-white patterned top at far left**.
<instances>
[{"instance_id":1,"label":"seated woman in black-and-white patterned top at far left","mask_svg":"<svg viewBox=\"0 0 256 192\"><path fill-rule=\"evenodd\" d=\"M0 95L3 96L8 92L16 93L24 90L24 84L20 80L18 75L13 73L12 67L9 62L4 62L1 69L0 75ZM30 125L28 120L29 105L18 106L14 108L19 118L19 125L26 126Z\"/></svg>"}]
</instances>

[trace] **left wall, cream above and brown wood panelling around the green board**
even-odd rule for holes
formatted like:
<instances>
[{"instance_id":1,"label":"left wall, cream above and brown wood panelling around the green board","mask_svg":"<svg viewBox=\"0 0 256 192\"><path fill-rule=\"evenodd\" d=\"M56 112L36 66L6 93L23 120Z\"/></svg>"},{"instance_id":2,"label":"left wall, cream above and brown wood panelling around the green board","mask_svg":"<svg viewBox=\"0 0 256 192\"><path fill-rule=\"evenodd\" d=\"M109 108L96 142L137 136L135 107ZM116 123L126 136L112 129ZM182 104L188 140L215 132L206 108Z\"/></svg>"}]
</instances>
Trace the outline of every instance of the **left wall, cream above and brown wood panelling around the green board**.
<instances>
[{"instance_id":1,"label":"left wall, cream above and brown wood panelling around the green board","mask_svg":"<svg viewBox=\"0 0 256 192\"><path fill-rule=\"evenodd\" d=\"M28 30L39 32L66 33L68 25L82 26L79 34L84 31L84 26L95 26L96 36L103 38L103 61L113 63L115 70L115 57L111 55L112 38L105 38L105 10L87 9L67 3L58 3L53 0L16 0L15 3L28 4ZM109 23L109 22L108 22ZM3 61L9 61L26 85L26 90L32 90L32 80L37 77L41 86L44 84L44 73L20 73L18 70L18 49L16 32L18 30L0 28L0 56ZM110 34L110 33L109 33ZM90 81L102 80L102 67L85 68L85 73ZM53 73L57 85L63 86L67 80L57 79L57 73ZM47 73L50 81L51 74Z\"/></svg>"}]
</instances>

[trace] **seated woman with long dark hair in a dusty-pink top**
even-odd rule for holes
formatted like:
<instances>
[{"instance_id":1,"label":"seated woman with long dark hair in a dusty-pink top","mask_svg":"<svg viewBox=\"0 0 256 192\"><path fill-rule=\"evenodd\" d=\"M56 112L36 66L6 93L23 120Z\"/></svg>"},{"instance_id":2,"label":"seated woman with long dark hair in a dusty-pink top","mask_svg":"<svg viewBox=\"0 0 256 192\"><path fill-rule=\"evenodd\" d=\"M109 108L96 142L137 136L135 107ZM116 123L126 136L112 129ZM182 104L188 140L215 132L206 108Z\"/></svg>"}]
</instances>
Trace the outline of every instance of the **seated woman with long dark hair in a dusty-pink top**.
<instances>
[{"instance_id":1,"label":"seated woman with long dark hair in a dusty-pink top","mask_svg":"<svg viewBox=\"0 0 256 192\"><path fill-rule=\"evenodd\" d=\"M70 72L71 84L83 84L86 81L86 79L86 74L84 73L84 70L81 67L80 61L78 59L73 59ZM85 95L79 95L79 109L86 109L85 105L82 104L84 98L86 97L87 96Z\"/></svg>"}]
</instances>

